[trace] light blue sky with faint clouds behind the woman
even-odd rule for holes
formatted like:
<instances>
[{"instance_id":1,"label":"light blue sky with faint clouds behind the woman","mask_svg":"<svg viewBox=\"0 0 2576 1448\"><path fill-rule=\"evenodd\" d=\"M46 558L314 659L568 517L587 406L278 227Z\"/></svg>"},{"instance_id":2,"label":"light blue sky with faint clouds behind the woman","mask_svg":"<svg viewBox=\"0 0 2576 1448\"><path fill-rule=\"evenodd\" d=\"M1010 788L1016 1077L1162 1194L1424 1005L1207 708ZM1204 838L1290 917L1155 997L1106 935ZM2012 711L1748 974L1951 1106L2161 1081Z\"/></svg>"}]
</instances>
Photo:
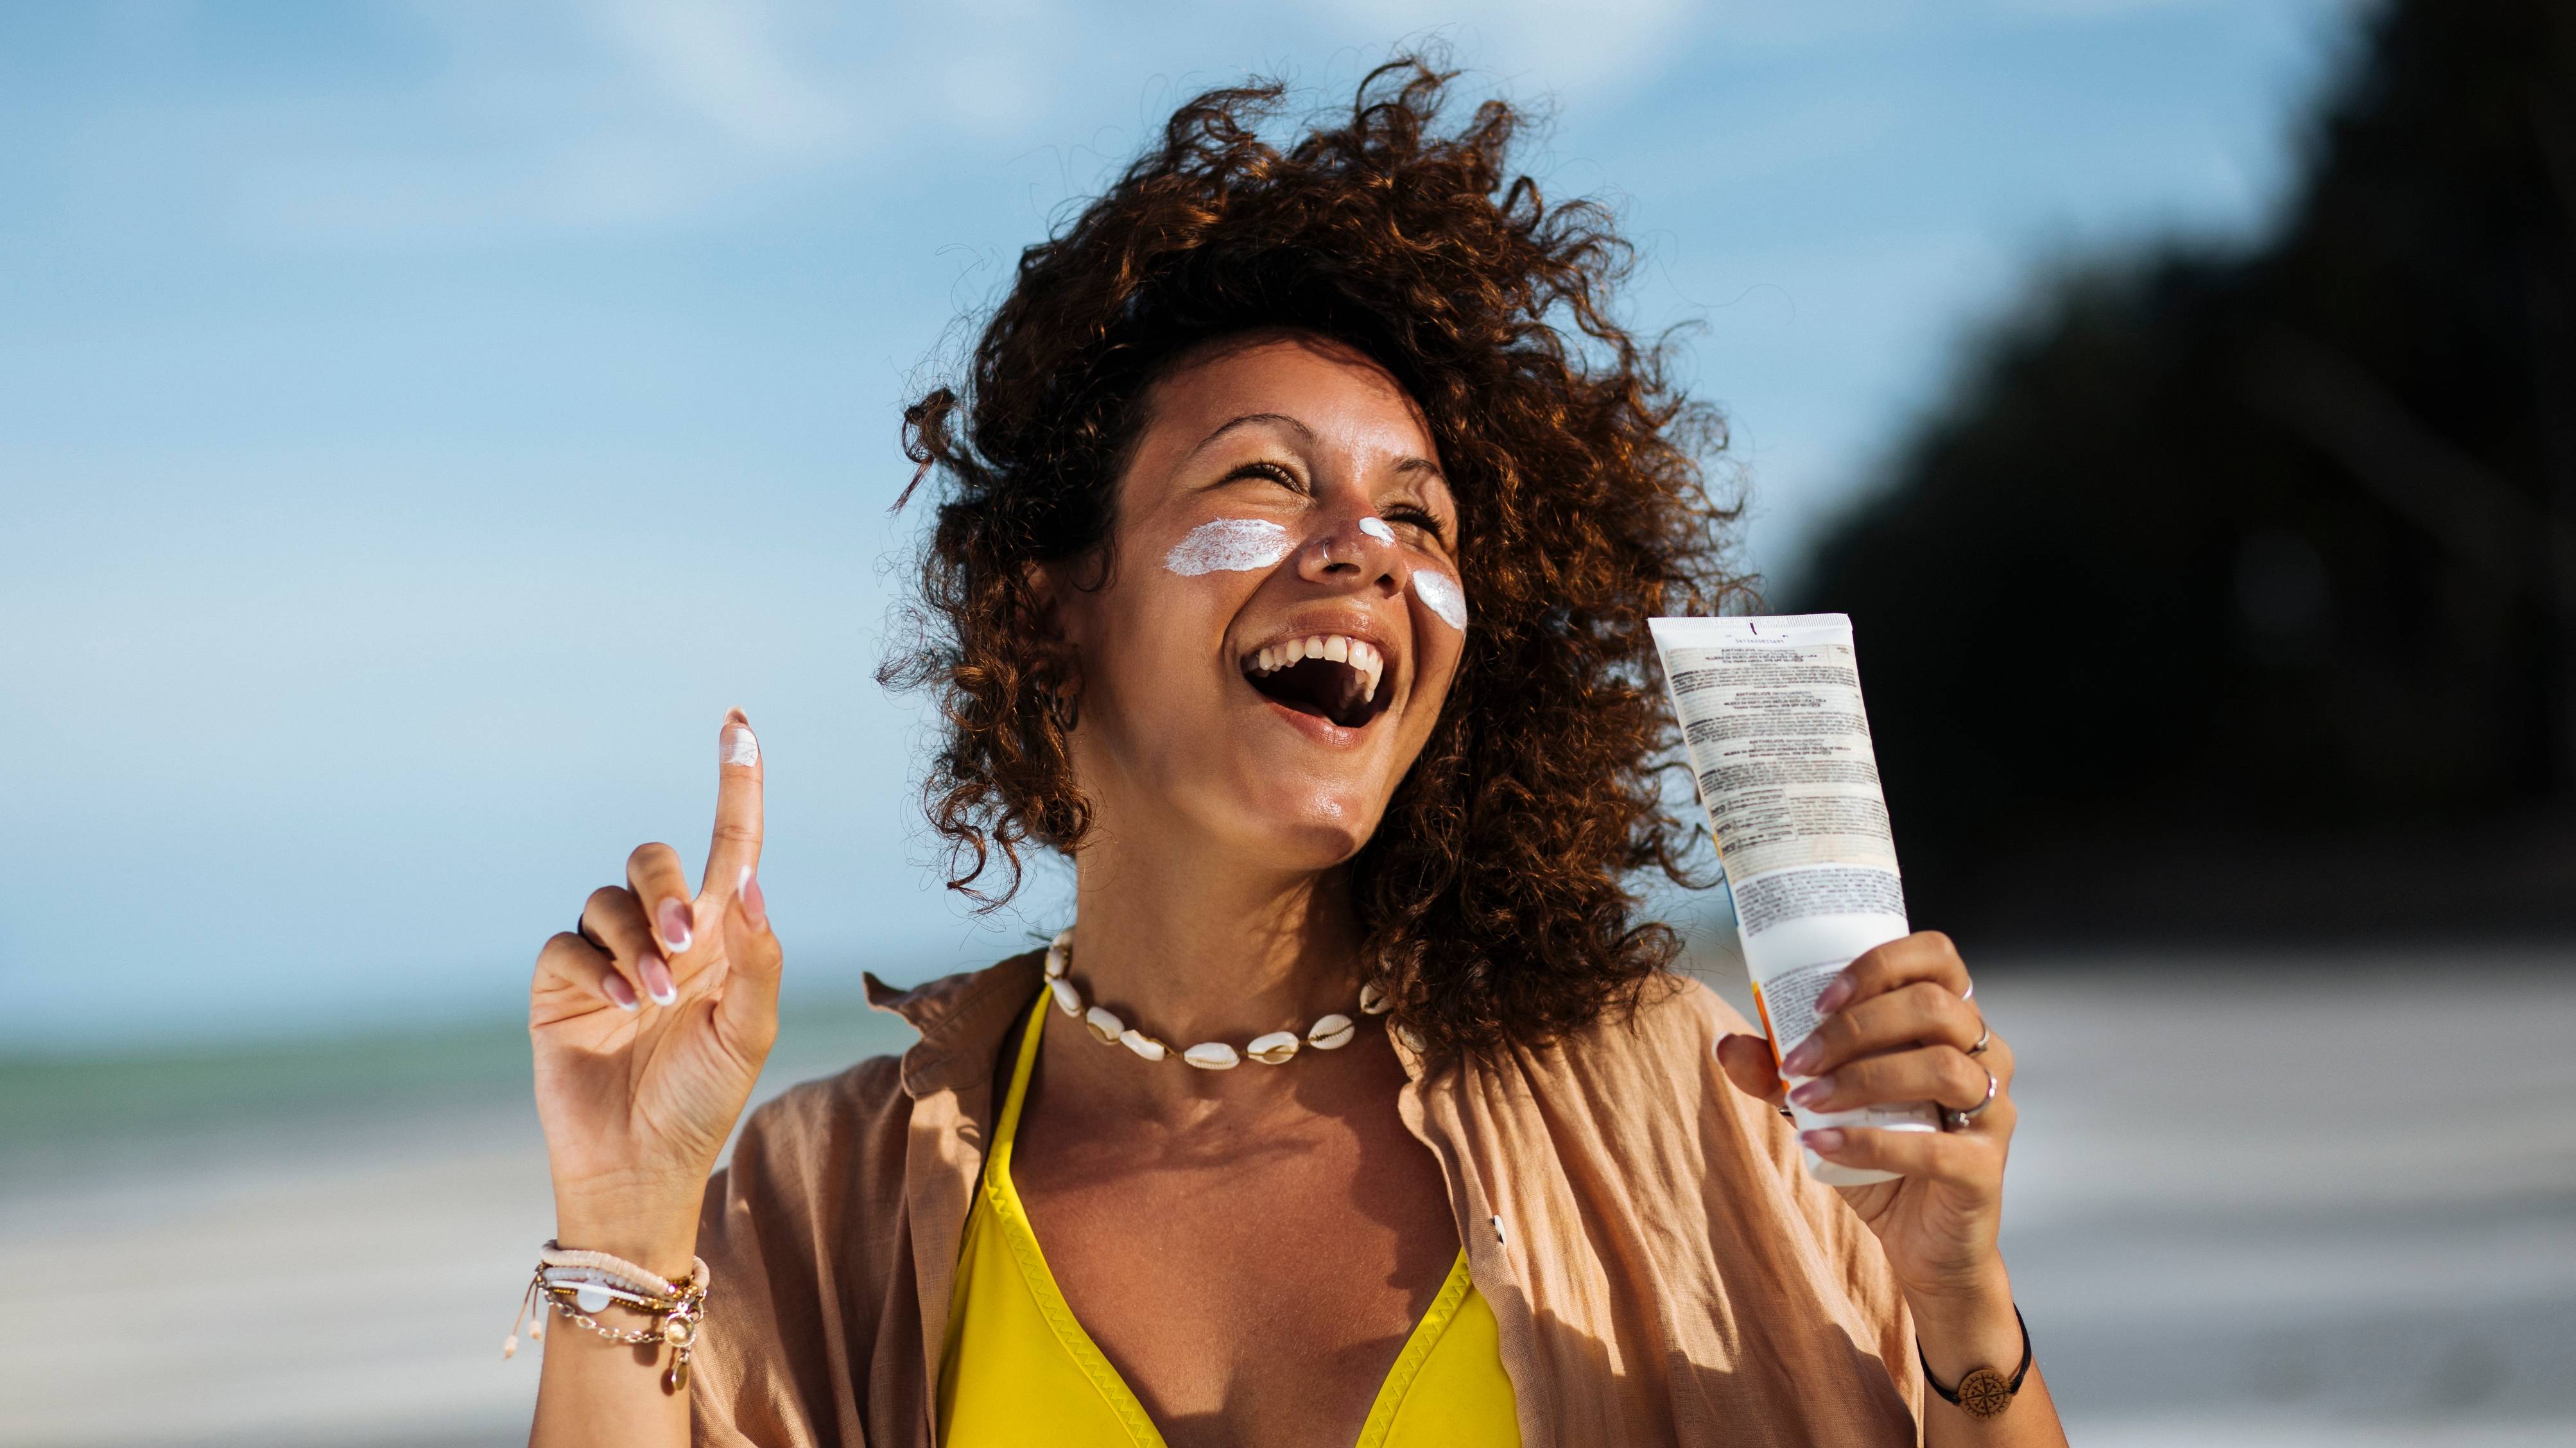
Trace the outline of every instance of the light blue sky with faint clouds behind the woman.
<instances>
[{"instance_id":1,"label":"light blue sky with faint clouds behind the woman","mask_svg":"<svg viewBox=\"0 0 2576 1448\"><path fill-rule=\"evenodd\" d=\"M1749 559L2035 271L2257 232L2352 0L0 8L0 1046L505 1015L770 757L791 989L927 871L896 410L1170 103L1437 33L1698 322ZM930 368L930 371L925 371Z\"/></svg>"}]
</instances>

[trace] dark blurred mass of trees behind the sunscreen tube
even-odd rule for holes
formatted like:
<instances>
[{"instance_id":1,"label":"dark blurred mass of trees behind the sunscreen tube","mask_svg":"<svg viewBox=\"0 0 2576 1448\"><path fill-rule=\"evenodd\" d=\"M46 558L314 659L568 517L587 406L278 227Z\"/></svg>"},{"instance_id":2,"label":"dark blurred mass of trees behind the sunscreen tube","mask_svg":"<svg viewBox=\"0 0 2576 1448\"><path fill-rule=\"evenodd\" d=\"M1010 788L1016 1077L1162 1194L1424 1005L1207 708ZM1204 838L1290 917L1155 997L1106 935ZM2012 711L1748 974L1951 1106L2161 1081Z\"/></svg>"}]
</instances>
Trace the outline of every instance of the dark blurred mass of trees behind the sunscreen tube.
<instances>
[{"instance_id":1,"label":"dark blurred mass of trees behind the sunscreen tube","mask_svg":"<svg viewBox=\"0 0 2576 1448\"><path fill-rule=\"evenodd\" d=\"M2576 5L2378 13L2269 240L2053 276L1783 603L1919 922L2576 925Z\"/></svg>"}]
</instances>

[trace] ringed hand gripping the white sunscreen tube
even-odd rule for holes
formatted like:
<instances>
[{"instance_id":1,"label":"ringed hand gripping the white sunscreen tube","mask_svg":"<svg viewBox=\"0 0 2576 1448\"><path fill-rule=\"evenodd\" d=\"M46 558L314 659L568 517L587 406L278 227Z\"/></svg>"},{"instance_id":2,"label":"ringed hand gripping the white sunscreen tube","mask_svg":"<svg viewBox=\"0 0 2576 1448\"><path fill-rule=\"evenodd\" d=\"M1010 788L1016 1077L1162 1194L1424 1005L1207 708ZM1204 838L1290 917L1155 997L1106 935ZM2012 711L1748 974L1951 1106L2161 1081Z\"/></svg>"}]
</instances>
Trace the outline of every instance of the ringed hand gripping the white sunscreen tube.
<instances>
[{"instance_id":1,"label":"ringed hand gripping the white sunscreen tube","mask_svg":"<svg viewBox=\"0 0 2576 1448\"><path fill-rule=\"evenodd\" d=\"M2012 1046L1986 1031L1968 992L1968 966L1947 935L1924 930L1888 940L1826 987L1816 1000L1824 1023L1783 1062L1790 1077L1803 1077L1798 1105L1814 1110L1932 1100L1947 1113L1986 1103L1965 1126L1945 1131L1806 1134L1829 1162L1904 1172L1839 1190L1878 1234L1917 1317L1947 1317L1945 1309L1986 1317L1996 1301L2007 1311L2012 1304L1996 1250L2014 1118ZM1718 1041L1718 1062L1736 1090L1783 1103L1780 1072L1759 1036Z\"/></svg>"}]
</instances>

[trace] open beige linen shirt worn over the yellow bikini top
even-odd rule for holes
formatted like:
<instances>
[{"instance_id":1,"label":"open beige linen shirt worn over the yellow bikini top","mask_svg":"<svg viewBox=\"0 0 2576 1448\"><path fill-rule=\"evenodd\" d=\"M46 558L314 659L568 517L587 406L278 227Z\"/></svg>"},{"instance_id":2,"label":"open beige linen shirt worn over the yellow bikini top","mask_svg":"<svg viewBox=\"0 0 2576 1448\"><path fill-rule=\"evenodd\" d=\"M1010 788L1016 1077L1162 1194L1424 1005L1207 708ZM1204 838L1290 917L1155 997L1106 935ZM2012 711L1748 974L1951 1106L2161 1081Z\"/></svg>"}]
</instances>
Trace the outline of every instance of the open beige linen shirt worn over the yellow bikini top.
<instances>
[{"instance_id":1,"label":"open beige linen shirt worn over the yellow bikini top","mask_svg":"<svg viewBox=\"0 0 2576 1448\"><path fill-rule=\"evenodd\" d=\"M1481 1062L1396 1046L1530 1448L1919 1443L1914 1327L1868 1226L1713 1046L1690 979ZM708 1183L696 1443L927 1448L994 1062L1038 956L868 1000L922 1038L752 1113Z\"/></svg>"}]
</instances>

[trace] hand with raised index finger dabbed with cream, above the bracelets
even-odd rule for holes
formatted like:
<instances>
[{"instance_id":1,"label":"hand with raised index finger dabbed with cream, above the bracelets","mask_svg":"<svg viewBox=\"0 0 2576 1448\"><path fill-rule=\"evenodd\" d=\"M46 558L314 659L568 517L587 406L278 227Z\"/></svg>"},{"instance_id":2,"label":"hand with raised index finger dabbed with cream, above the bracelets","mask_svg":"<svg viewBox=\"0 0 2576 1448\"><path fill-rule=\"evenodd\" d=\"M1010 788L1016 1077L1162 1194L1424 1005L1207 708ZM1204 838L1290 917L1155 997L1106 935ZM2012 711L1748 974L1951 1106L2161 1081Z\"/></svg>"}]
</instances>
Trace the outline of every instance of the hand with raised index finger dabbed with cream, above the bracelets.
<instances>
[{"instance_id":1,"label":"hand with raised index finger dabbed with cream, above the bracelets","mask_svg":"<svg viewBox=\"0 0 2576 1448\"><path fill-rule=\"evenodd\" d=\"M556 1239L688 1275L698 1203L778 1038L778 935L760 897L760 745L719 732L716 837L696 891L670 845L626 855L528 987Z\"/></svg>"}]
</instances>

